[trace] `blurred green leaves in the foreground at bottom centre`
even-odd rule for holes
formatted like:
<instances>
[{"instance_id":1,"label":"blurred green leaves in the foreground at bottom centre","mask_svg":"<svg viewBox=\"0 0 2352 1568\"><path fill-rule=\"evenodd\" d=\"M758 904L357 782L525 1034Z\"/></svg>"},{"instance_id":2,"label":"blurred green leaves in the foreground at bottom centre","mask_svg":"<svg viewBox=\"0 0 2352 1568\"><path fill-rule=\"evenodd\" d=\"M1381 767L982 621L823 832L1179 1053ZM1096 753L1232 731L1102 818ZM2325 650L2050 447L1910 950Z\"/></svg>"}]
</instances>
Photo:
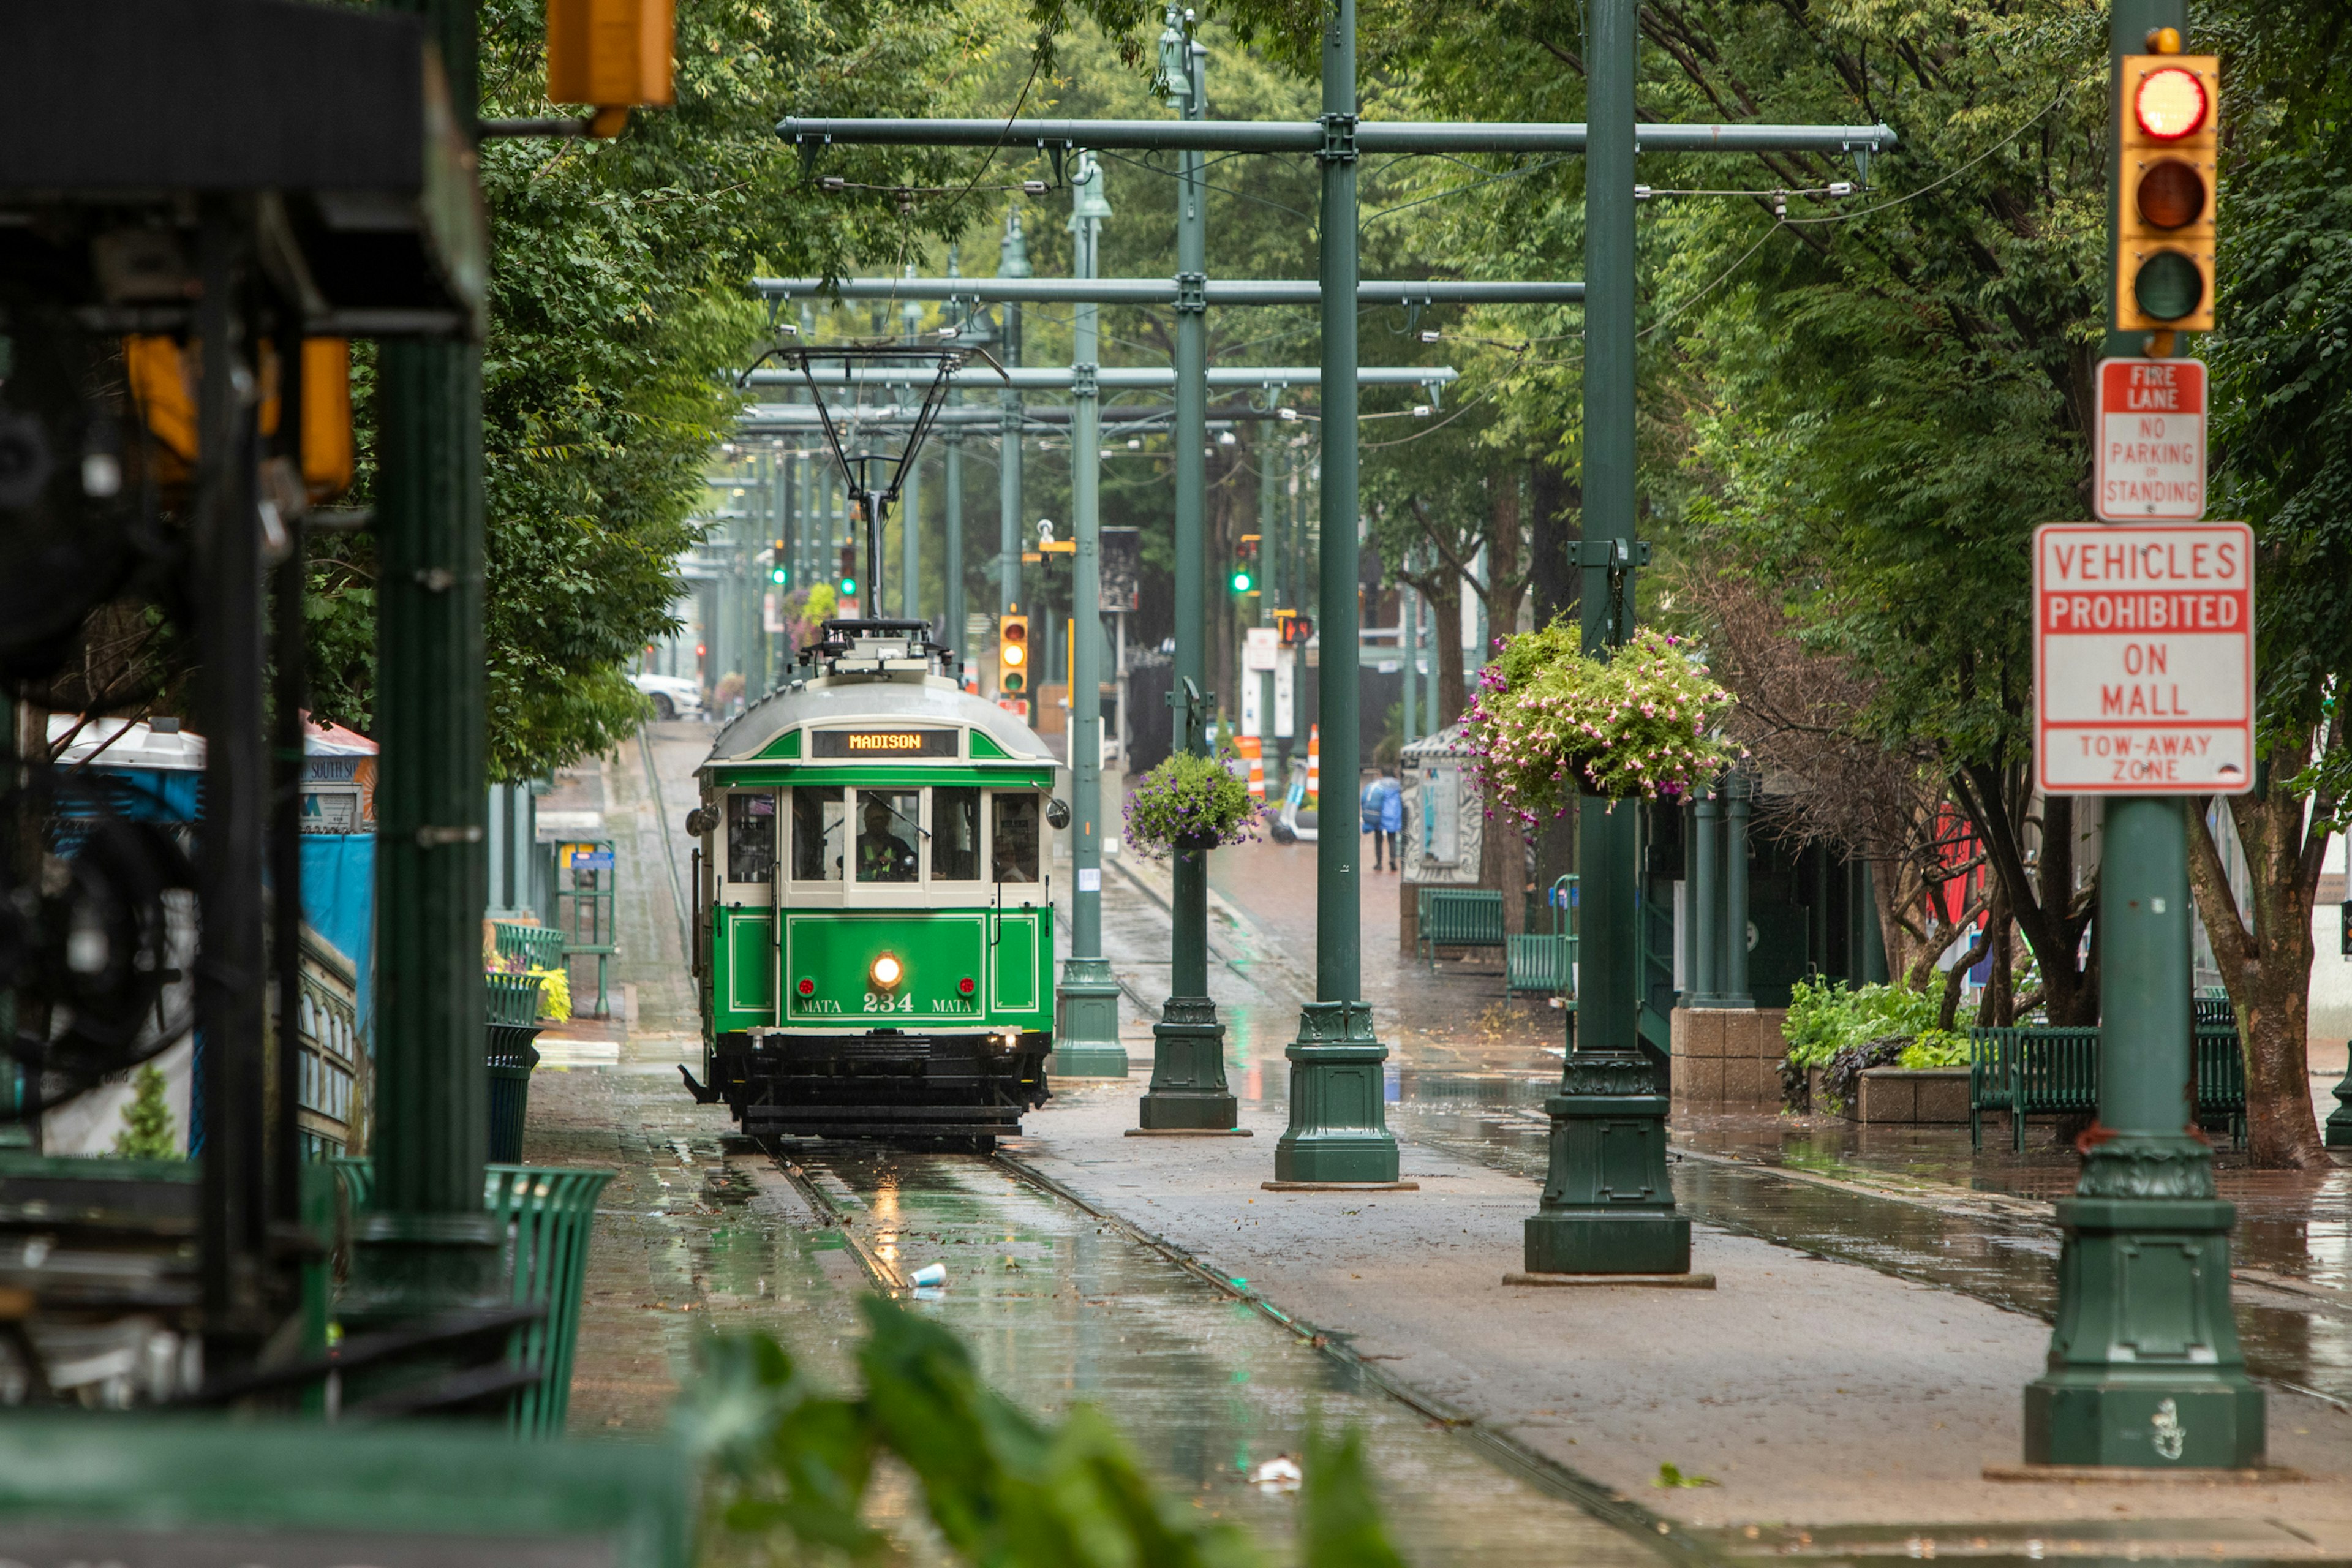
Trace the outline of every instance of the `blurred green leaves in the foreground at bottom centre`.
<instances>
[{"instance_id":1,"label":"blurred green leaves in the foreground at bottom centre","mask_svg":"<svg viewBox=\"0 0 2352 1568\"><path fill-rule=\"evenodd\" d=\"M713 1340L677 1422L703 1455L715 1530L739 1542L826 1547L854 1559L887 1542L861 1519L875 1462L920 1481L960 1561L990 1568L1254 1568L1249 1537L1178 1507L1091 1406L1044 1425L981 1382L946 1328L866 1298L866 1394L826 1394L767 1335ZM1362 1439L1310 1441L1301 1561L1402 1568L1388 1544Z\"/></svg>"}]
</instances>

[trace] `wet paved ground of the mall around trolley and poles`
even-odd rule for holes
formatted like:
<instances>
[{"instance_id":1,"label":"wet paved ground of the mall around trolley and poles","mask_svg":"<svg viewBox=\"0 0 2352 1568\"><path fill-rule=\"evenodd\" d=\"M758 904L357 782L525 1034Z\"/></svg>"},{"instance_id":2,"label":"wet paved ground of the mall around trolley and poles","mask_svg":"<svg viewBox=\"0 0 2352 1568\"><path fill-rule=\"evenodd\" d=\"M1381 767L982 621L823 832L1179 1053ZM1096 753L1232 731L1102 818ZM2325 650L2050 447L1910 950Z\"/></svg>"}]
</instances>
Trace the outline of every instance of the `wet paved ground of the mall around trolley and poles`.
<instances>
[{"instance_id":1,"label":"wet paved ground of the mall around trolley and poles","mask_svg":"<svg viewBox=\"0 0 2352 1568\"><path fill-rule=\"evenodd\" d=\"M1905 1512L1903 1497L1980 1497L1987 1488L1976 1467L2016 1458L2018 1389L2037 1371L2046 1340L2037 1319L2053 1293L2049 1199L2072 1185L2056 1157L2013 1159L2004 1147L1971 1161L1964 1131L1955 1152L1943 1133L1889 1140L1870 1128L1858 1138L1844 1124L1769 1117L1679 1128L1677 1199L1700 1222L1700 1267L1724 1269L1724 1293L1705 1302L1642 1302L1623 1291L1496 1295L1494 1279L1515 1267L1517 1218L1534 1208L1541 1178L1541 1100L1559 1070L1559 1013L1503 1001L1494 964L1430 973L1399 957L1395 884L1367 875L1364 990L1392 1046L1390 1121L1406 1145L1406 1175L1421 1168L1425 1192L1383 1199L1385 1211L1355 1201L1338 1213L1291 1208L1289 1218L1270 1197L1251 1197L1256 1178L1270 1175L1287 1117L1282 1046L1312 985L1310 846L1225 851L1211 877L1211 994L1228 1023L1228 1074L1256 1138L1181 1152L1117 1138L1134 1124L1150 1018L1167 990L1164 870L1124 863L1105 875L1103 917L1105 952L1129 992L1129 1081L1068 1084L1033 1117L1033 1138L1009 1152L1011 1164L809 1145L788 1157L797 1175L779 1168L731 1143L724 1114L694 1107L675 1079L675 1063L694 1060L699 1046L668 882L673 856L682 867L689 849L677 818L691 804L689 778L708 733L699 724L652 726L644 750L623 748L597 773L626 867L616 980L637 987L640 1016L604 1032L612 1046L588 1041L543 1067L532 1093L529 1159L621 1168L590 1255L574 1432L659 1425L708 1328L771 1328L818 1371L840 1373L856 1333L854 1298L875 1274L887 1281L936 1260L948 1265L950 1288L922 1309L967 1335L990 1382L1042 1413L1073 1399L1103 1403L1171 1486L1272 1537L1287 1535L1291 1500L1261 1497L1240 1476L1256 1460L1296 1450L1305 1422L1319 1418L1371 1432L1383 1502L1411 1561L1425 1563L1651 1561L1644 1507L1682 1521L1663 1542L1677 1556L2352 1559L2352 1521L2305 1519L2319 1490L2338 1493L2352 1425L2340 1406L2291 1392L2352 1399L2352 1192L2343 1171L2286 1182L2225 1173L2241 1206L2241 1335L2258 1375L2281 1389L2274 1453L2298 1455L2328 1481L2267 1502L2211 1488L2204 1497L2124 1502L2009 1488L1973 1512L1943 1514ZM1063 889L1056 877L1056 893ZM600 1048L612 1056L597 1058ZM1094 1211L1023 1168L1042 1180L1068 1175L1061 1185ZM1430 1225L1432 1199L1461 1215L1451 1227L1458 1237ZM1404 1272L1362 1281L1369 1269L1345 1262L1357 1255L1348 1234L1374 1222L1388 1229L1371 1251L1383 1269L1395 1262ZM1228 1265L1251 1284L1235 1291ZM1446 1335L1414 1328L1414 1312L1446 1291L1458 1295L1444 1319L1458 1356L1432 1342ZM1703 1328L1724 1309L1731 1316L1719 1331ZM1740 1319L1762 1312L1776 1321L1788 1312L1780 1333L1799 1340L1846 1333L1882 1342L1856 1340L1844 1352L1853 1371L1839 1373L1835 1389L1759 1373L1748 1394L1738 1356L1724 1359L1724 1349L1738 1342ZM1284 1316L1298 1324L1287 1328ZM1675 1316L1686 1319L1682 1331L1670 1328ZM1915 1319L1922 1345L1884 1342L1886 1324ZM1976 1349L1943 1345L1929 1319L1950 1319L1943 1338L1962 1335ZM1310 1326L1331 1326L1322 1347ZM1696 1361L1717 1354L1708 1371L1717 1382L1691 1385L1682 1408L1679 1385L1665 1375L1682 1363L1658 1359L1658 1335L1675 1333L1696 1335L1675 1340ZM1724 1345L1710 1347L1710 1333ZM1759 1345L1778 1347L1769 1335ZM1952 1356L1950 1375L1926 1375L1938 1354ZM1644 1375L1656 1378L1646 1396ZM1922 1392L1940 1401L1933 1420L1910 1401ZM1432 1410L1458 1425L1432 1422ZM1950 1441L1905 1420L1922 1429L1950 1420ZM1736 1455L1722 1448L1731 1432L1743 1443ZM2314 1465L2312 1441L2321 1439ZM1799 1486L1790 1467L1802 1469L1811 1443L1825 1462L1860 1443L1875 1465L1872 1446L1884 1448L1893 1472L1865 1476L1858 1465L1830 1488L1837 1507L1809 1509L1799 1493L1811 1481ZM1773 1448L1788 1453L1766 1458ZM1710 1476L1722 1486L1651 1488L1658 1462L1677 1455L1691 1469L1715 1465ZM1905 1479L1905 1455L1936 1483L1919 1490ZM877 1512L898 1521L891 1533L903 1554L936 1556L906 1495L877 1497ZM2352 1509L2328 1502L2317 1512L2333 1519ZM1785 1519L1860 1523L1773 1523ZM1915 1519L2006 1523L1971 1533L1905 1523ZM2307 1528L2277 1519L2305 1519Z\"/></svg>"}]
</instances>

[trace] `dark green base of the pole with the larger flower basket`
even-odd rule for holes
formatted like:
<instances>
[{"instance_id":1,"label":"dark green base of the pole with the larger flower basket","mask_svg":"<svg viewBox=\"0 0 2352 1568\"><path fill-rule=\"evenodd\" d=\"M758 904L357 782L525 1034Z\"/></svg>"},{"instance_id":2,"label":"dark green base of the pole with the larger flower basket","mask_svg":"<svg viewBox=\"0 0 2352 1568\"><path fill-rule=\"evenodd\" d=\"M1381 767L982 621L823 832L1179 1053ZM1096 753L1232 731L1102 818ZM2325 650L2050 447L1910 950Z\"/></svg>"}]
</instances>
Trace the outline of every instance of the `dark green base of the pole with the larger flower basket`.
<instances>
[{"instance_id":1,"label":"dark green base of the pole with the larger flower basket","mask_svg":"<svg viewBox=\"0 0 2352 1568\"><path fill-rule=\"evenodd\" d=\"M1526 1218L1529 1274L1689 1274L1691 1220L1665 1175L1665 1095L1639 1056L1569 1056L1543 1201Z\"/></svg>"}]
</instances>

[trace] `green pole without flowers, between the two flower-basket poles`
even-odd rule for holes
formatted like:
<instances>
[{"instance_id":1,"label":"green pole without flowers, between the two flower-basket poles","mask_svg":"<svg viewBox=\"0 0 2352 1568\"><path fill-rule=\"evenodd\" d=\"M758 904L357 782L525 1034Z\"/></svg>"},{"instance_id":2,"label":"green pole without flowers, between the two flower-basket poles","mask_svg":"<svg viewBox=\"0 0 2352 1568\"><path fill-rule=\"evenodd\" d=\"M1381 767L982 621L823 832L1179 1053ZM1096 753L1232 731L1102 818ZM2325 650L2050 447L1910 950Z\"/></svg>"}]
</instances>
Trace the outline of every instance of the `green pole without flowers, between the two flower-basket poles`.
<instances>
[{"instance_id":1,"label":"green pole without flowers, between the two flower-basket poles","mask_svg":"<svg viewBox=\"0 0 2352 1568\"><path fill-rule=\"evenodd\" d=\"M1322 832L1315 835L1315 1001L1298 1018L1291 1124L1275 1180L1392 1182L1397 1138L1383 1105L1388 1046L1364 997L1355 773L1357 670L1357 207L1355 0L1334 0L1322 38Z\"/></svg>"}]
</instances>

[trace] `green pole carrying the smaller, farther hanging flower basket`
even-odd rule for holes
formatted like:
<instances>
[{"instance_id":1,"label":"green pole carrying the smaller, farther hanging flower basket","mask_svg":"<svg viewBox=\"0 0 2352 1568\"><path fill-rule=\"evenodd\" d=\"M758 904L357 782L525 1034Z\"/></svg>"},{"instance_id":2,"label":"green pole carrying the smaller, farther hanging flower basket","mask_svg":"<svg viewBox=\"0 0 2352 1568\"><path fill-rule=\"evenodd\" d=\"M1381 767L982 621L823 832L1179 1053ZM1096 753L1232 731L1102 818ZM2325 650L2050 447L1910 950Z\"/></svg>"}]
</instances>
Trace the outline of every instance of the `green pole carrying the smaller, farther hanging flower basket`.
<instances>
[{"instance_id":1,"label":"green pole carrying the smaller, farther hanging flower basket","mask_svg":"<svg viewBox=\"0 0 2352 1568\"><path fill-rule=\"evenodd\" d=\"M1207 118L1202 63L1190 26L1176 5L1160 31L1160 75L1185 120ZM1176 181L1176 745L1207 755L1216 717L1207 649L1207 468L1209 336L1207 296L1207 181L1200 153L1178 153ZM1350 294L1352 299L1352 294ZM1225 1025L1209 999L1209 851L1178 849L1169 903L1169 999L1152 1025L1152 1086L1138 1105L1150 1131L1225 1131L1237 1105L1225 1086Z\"/></svg>"}]
</instances>

